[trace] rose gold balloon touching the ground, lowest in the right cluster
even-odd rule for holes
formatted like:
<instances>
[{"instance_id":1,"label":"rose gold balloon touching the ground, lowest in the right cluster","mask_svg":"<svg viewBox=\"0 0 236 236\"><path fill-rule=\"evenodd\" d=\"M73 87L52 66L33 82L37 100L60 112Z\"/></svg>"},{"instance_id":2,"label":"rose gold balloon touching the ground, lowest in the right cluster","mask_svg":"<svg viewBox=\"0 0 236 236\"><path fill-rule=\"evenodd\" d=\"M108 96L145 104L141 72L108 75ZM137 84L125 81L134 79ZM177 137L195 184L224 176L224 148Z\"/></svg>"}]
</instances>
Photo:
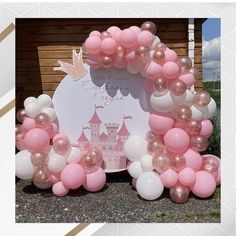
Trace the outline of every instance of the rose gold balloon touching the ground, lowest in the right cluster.
<instances>
[{"instance_id":1,"label":"rose gold balloon touching the ground, lowest in the right cluster","mask_svg":"<svg viewBox=\"0 0 236 236\"><path fill-rule=\"evenodd\" d=\"M185 203L189 198L189 189L179 183L170 188L170 199L175 203Z\"/></svg>"}]
</instances>

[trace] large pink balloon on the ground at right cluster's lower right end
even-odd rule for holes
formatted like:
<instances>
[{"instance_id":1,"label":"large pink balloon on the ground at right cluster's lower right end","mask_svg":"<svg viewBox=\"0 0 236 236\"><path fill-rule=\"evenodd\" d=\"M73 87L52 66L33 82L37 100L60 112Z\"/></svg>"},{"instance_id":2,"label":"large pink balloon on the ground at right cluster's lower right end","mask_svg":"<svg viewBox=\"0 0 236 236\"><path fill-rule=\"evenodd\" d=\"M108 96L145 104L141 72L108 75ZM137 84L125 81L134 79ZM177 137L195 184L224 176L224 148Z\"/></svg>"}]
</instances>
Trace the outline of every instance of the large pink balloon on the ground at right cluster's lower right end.
<instances>
[{"instance_id":1,"label":"large pink balloon on the ground at right cluster's lower right end","mask_svg":"<svg viewBox=\"0 0 236 236\"><path fill-rule=\"evenodd\" d=\"M192 192L201 198L210 197L216 189L215 178L206 171L196 173L196 182L191 187Z\"/></svg>"}]
</instances>

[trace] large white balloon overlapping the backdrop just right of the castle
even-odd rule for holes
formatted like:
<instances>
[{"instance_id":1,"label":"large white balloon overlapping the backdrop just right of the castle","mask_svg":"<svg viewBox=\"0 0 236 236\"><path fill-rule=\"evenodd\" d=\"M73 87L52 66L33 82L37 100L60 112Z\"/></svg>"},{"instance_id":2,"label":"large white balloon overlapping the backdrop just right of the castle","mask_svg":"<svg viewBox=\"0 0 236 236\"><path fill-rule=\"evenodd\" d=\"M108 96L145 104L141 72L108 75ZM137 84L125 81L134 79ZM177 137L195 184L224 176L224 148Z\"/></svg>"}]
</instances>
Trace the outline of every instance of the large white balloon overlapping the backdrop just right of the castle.
<instances>
[{"instance_id":1,"label":"large white balloon overlapping the backdrop just right of the castle","mask_svg":"<svg viewBox=\"0 0 236 236\"><path fill-rule=\"evenodd\" d=\"M131 161L138 161L147 153L147 141L140 136L129 136L124 145L124 152Z\"/></svg>"}]
</instances>

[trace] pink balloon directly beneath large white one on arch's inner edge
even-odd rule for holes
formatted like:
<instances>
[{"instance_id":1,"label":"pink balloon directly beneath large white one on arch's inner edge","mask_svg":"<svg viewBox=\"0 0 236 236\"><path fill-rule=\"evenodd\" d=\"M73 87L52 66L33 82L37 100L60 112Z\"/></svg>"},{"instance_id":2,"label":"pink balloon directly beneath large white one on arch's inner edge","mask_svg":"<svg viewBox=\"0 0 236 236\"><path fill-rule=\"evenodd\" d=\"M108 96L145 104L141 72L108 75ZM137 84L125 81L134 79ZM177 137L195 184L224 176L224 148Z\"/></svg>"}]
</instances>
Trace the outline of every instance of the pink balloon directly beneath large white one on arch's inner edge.
<instances>
[{"instance_id":1,"label":"pink balloon directly beneath large white one on arch's inner edge","mask_svg":"<svg viewBox=\"0 0 236 236\"><path fill-rule=\"evenodd\" d=\"M157 134L165 134L173 128L174 120L165 116L151 114L148 119L149 127Z\"/></svg>"}]
</instances>

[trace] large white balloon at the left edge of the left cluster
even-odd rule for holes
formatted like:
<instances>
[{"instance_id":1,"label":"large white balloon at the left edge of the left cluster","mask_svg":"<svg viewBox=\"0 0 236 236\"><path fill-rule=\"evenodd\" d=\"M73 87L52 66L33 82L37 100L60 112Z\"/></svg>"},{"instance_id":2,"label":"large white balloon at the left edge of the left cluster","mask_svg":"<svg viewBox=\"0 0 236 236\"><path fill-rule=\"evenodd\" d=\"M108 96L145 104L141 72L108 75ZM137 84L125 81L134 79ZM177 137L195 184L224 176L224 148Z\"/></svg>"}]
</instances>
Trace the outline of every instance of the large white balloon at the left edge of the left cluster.
<instances>
[{"instance_id":1,"label":"large white balloon at the left edge of the left cluster","mask_svg":"<svg viewBox=\"0 0 236 236\"><path fill-rule=\"evenodd\" d=\"M27 150L20 151L16 154L15 172L20 179L32 179L35 167L30 159L31 153Z\"/></svg>"}]
</instances>

